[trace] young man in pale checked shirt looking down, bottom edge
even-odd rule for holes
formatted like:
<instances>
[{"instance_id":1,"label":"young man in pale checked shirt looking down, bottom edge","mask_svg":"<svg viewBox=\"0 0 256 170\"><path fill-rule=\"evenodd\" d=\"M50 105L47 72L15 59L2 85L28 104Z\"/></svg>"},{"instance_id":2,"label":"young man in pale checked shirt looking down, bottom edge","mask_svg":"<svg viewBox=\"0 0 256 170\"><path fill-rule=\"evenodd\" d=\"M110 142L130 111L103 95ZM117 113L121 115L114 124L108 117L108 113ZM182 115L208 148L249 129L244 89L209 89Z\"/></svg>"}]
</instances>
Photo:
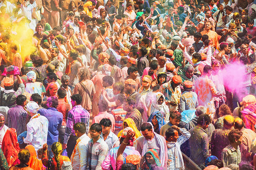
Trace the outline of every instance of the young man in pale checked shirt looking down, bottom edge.
<instances>
[{"instance_id":1,"label":"young man in pale checked shirt looking down, bottom edge","mask_svg":"<svg viewBox=\"0 0 256 170\"><path fill-rule=\"evenodd\" d=\"M108 153L108 144L101 139L102 127L99 123L94 123L90 127L90 137L86 145L86 169L101 169L101 163Z\"/></svg>"}]
</instances>

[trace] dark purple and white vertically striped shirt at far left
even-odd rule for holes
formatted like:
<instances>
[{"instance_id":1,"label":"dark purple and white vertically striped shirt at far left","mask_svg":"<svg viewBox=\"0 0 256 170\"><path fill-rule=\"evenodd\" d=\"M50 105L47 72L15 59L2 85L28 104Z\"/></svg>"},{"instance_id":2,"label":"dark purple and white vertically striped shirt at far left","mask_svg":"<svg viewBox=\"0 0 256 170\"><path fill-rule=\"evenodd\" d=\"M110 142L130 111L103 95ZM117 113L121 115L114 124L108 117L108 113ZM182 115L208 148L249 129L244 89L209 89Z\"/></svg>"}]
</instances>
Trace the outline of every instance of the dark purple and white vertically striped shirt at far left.
<instances>
[{"instance_id":1,"label":"dark purple and white vertically striped shirt at far left","mask_svg":"<svg viewBox=\"0 0 256 170\"><path fill-rule=\"evenodd\" d=\"M16 105L8 111L8 126L16 129L17 136L26 131L27 111L22 106Z\"/></svg>"}]
</instances>

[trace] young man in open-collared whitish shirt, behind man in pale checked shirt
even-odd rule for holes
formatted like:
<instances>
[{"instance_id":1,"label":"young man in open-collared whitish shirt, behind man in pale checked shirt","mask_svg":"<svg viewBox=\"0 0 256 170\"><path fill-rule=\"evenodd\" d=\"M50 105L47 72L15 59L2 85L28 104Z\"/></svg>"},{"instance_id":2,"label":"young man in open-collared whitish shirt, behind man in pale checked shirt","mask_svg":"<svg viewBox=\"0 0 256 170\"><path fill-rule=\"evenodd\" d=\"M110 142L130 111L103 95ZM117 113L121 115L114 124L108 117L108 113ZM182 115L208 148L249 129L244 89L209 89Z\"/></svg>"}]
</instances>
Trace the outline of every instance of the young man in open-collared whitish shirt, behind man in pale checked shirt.
<instances>
[{"instance_id":1,"label":"young man in open-collared whitish shirt, behind man in pale checked shirt","mask_svg":"<svg viewBox=\"0 0 256 170\"><path fill-rule=\"evenodd\" d=\"M101 119L100 125L102 127L102 133L100 134L101 139L103 139L109 146L109 151L112 148L119 146L118 137L111 132L111 120L110 119Z\"/></svg>"}]
</instances>

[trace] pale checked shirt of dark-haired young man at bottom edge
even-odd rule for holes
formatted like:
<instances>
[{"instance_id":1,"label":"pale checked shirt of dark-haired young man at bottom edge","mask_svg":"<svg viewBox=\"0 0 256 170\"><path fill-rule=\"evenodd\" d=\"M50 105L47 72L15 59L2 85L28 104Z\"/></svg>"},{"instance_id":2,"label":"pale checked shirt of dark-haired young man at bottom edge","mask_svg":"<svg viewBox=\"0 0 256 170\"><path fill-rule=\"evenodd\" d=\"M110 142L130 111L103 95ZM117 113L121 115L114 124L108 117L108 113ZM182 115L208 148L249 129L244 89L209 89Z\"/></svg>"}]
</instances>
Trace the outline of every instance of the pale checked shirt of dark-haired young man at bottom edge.
<instances>
[{"instance_id":1,"label":"pale checked shirt of dark-haired young man at bottom edge","mask_svg":"<svg viewBox=\"0 0 256 170\"><path fill-rule=\"evenodd\" d=\"M95 143L93 139L89 140L86 145L86 169L101 170L101 163L108 154L108 148L108 144L101 138Z\"/></svg>"}]
</instances>

